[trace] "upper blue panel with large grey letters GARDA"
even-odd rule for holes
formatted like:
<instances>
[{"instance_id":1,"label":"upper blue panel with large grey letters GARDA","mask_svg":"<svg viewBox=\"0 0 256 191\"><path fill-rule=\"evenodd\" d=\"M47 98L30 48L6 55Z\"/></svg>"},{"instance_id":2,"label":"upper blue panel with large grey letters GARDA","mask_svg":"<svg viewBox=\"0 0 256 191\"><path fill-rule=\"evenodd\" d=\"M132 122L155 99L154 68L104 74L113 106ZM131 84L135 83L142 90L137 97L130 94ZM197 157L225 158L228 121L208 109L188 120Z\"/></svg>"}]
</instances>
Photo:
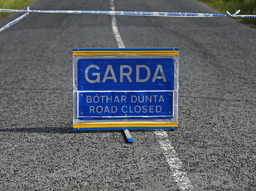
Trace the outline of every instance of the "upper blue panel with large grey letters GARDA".
<instances>
[{"instance_id":1,"label":"upper blue panel with large grey letters GARDA","mask_svg":"<svg viewBox=\"0 0 256 191\"><path fill-rule=\"evenodd\" d=\"M174 90L172 58L80 59L78 91Z\"/></svg>"}]
</instances>

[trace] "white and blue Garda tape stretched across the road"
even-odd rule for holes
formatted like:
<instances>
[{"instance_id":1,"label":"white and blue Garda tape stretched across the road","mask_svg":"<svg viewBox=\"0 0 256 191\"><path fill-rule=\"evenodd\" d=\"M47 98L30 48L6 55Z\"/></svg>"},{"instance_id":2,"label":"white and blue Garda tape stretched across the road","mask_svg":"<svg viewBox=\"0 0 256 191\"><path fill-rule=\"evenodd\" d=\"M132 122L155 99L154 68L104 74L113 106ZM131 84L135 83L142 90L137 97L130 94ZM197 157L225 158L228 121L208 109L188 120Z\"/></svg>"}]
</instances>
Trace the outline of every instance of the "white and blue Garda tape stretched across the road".
<instances>
[{"instance_id":1,"label":"white and blue Garda tape stretched across the road","mask_svg":"<svg viewBox=\"0 0 256 191\"><path fill-rule=\"evenodd\" d=\"M237 15L240 10L234 14L217 14L217 13L193 13L193 12L149 12L149 11L65 11L65 10L15 10L15 9L0 9L0 12L26 12L24 15L9 22L0 29L0 32L9 28L13 24L22 20L29 12L38 13L75 13L75 14L103 14L103 15L134 15L134 16L161 16L161 17L236 17L236 18L256 18L256 15Z\"/></svg>"}]
</instances>

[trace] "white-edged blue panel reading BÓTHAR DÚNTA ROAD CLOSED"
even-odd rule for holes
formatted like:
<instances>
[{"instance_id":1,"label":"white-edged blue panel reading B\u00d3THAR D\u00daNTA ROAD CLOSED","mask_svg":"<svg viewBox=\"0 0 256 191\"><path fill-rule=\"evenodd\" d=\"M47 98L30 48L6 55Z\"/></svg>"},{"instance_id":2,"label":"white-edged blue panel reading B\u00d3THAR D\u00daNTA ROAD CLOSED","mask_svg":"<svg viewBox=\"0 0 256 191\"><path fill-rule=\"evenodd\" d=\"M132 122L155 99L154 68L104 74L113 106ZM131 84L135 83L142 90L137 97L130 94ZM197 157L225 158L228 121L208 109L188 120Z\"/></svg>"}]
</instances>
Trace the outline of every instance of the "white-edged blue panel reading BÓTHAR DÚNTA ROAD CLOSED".
<instances>
[{"instance_id":1,"label":"white-edged blue panel reading B\u00d3THAR D\u00daNTA ROAD CLOSED","mask_svg":"<svg viewBox=\"0 0 256 191\"><path fill-rule=\"evenodd\" d=\"M78 118L173 118L173 91L78 92Z\"/></svg>"}]
</instances>

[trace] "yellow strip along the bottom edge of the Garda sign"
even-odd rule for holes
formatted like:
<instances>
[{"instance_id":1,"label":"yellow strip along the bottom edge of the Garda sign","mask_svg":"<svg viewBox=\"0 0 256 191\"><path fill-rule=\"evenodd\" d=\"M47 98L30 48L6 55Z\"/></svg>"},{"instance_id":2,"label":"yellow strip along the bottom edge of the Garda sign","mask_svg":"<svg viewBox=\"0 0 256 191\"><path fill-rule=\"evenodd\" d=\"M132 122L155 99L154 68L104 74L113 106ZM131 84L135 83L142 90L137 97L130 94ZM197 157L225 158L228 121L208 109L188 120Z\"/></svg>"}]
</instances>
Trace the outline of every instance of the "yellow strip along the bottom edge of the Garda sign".
<instances>
[{"instance_id":1,"label":"yellow strip along the bottom edge of the Garda sign","mask_svg":"<svg viewBox=\"0 0 256 191\"><path fill-rule=\"evenodd\" d=\"M106 127L178 127L178 123L172 122L143 122L143 123L76 123L73 128L106 128Z\"/></svg>"}]
</instances>

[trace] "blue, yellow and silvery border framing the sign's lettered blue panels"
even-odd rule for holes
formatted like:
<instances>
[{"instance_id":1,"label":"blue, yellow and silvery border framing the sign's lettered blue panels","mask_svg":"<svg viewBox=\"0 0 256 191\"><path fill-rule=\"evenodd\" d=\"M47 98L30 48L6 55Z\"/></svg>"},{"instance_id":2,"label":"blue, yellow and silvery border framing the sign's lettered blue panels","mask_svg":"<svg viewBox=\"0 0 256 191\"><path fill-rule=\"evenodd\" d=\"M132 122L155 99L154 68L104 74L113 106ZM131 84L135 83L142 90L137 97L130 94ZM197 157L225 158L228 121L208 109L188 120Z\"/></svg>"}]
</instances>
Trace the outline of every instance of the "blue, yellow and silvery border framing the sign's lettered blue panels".
<instances>
[{"instance_id":1,"label":"blue, yellow and silvery border framing the sign's lettered blue panels","mask_svg":"<svg viewBox=\"0 0 256 191\"><path fill-rule=\"evenodd\" d=\"M147 116L147 118L137 118L131 116L123 116L117 118L102 117L104 120L100 120L98 117L95 120L85 120L84 117L78 115L78 94L79 92L104 92L104 90L83 90L78 89L78 61L80 59L128 59L128 58L171 58L174 60L173 70L173 90L138 90L140 92L173 92L173 116L172 119L154 118ZM178 48L73 48L73 130L125 130L125 129L177 129L178 127L178 60L179 49ZM99 83L96 83L96 85ZM141 84L140 84L141 85ZM86 88L86 87L85 87ZM133 90L105 90L106 92L136 92ZM91 117L91 116L89 116ZM112 116L113 117L113 116ZM142 116L145 117L145 116ZM167 117L167 116L165 116ZM131 120L130 120L131 119Z\"/></svg>"}]
</instances>

